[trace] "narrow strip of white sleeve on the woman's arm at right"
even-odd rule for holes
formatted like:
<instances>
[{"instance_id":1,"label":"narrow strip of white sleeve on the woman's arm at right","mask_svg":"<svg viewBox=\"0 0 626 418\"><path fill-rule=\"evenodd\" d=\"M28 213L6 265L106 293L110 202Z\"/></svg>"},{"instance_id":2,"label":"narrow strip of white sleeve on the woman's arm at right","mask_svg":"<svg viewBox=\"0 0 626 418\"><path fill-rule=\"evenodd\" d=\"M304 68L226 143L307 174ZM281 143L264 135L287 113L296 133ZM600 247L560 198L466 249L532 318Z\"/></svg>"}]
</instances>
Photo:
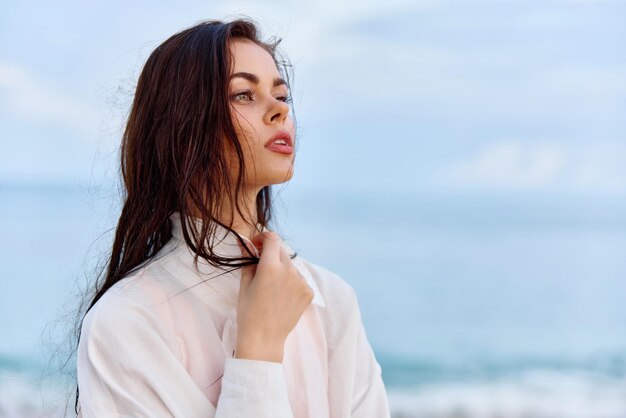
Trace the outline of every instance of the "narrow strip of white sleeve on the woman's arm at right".
<instances>
[{"instance_id":1,"label":"narrow strip of white sleeve on the woman's arm at right","mask_svg":"<svg viewBox=\"0 0 626 418\"><path fill-rule=\"evenodd\" d=\"M389 418L387 393L382 379L382 369L370 345L354 295L353 326L357 329L355 348L355 373L351 402L351 418Z\"/></svg>"}]
</instances>

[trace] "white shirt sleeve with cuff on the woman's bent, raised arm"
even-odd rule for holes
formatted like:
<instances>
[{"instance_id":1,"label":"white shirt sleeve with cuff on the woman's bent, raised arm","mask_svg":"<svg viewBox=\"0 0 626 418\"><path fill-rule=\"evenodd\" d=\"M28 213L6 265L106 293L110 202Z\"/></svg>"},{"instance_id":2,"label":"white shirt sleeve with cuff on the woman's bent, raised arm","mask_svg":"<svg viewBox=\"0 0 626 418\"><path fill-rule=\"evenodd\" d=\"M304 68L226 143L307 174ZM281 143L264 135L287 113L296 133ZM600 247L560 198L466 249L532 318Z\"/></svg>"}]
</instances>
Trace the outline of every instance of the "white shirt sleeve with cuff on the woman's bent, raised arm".
<instances>
[{"instance_id":1,"label":"white shirt sleeve with cuff on the woman's bent, raised arm","mask_svg":"<svg viewBox=\"0 0 626 418\"><path fill-rule=\"evenodd\" d=\"M114 301L103 297L83 321L79 417L293 418L282 363L227 358L214 406L180 361L176 338L141 308Z\"/></svg>"}]
</instances>

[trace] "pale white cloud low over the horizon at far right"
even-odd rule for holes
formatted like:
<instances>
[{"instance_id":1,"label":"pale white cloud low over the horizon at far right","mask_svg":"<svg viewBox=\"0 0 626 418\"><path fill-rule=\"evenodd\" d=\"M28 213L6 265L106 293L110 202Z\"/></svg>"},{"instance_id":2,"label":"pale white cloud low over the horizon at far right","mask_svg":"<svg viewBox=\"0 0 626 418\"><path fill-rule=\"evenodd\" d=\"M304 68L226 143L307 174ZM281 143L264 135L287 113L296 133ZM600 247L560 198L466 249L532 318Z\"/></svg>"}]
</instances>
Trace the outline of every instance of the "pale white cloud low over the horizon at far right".
<instances>
[{"instance_id":1,"label":"pale white cloud low over the horizon at far right","mask_svg":"<svg viewBox=\"0 0 626 418\"><path fill-rule=\"evenodd\" d=\"M440 185L529 191L626 192L626 144L502 139L436 170Z\"/></svg>"}]
</instances>

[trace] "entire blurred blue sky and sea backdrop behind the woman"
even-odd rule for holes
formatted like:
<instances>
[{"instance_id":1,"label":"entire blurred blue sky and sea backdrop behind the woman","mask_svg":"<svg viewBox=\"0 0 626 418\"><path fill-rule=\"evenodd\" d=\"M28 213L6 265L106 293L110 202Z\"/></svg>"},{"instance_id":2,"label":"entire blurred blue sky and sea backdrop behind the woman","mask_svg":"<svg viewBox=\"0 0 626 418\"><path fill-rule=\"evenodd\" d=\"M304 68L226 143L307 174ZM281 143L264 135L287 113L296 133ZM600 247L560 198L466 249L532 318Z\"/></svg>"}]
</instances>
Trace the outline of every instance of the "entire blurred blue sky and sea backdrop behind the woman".
<instances>
[{"instance_id":1,"label":"entire blurred blue sky and sea backdrop behind the woman","mask_svg":"<svg viewBox=\"0 0 626 418\"><path fill-rule=\"evenodd\" d=\"M72 396L145 59L239 14L294 66L280 231L355 288L393 416L626 417L619 0L0 2L0 417Z\"/></svg>"}]
</instances>

